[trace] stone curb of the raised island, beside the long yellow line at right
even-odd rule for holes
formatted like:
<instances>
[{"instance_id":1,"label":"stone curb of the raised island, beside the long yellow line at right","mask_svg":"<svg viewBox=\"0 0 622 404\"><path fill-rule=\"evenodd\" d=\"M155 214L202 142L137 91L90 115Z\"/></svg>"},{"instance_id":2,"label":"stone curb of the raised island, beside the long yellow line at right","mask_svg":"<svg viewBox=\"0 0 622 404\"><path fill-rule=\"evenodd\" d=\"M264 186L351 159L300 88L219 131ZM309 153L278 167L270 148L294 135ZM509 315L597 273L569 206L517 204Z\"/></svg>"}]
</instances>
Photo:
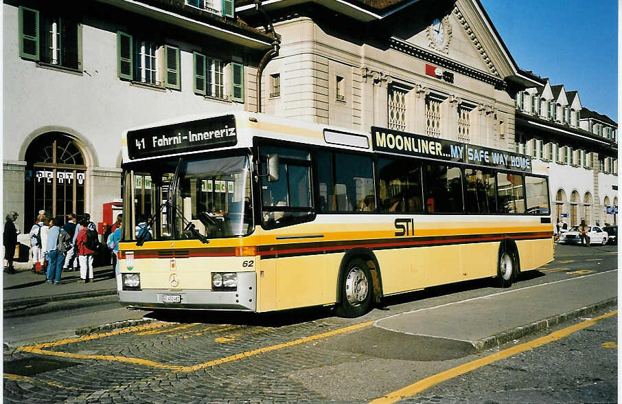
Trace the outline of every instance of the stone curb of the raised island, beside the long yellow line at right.
<instances>
[{"instance_id":1,"label":"stone curb of the raised island, beside the long yellow line at right","mask_svg":"<svg viewBox=\"0 0 622 404\"><path fill-rule=\"evenodd\" d=\"M618 298L603 300L602 302L592 304L591 306L577 308L573 311L569 311L568 313L554 315L525 326L516 327L511 330L503 331L503 333L498 333L487 338L479 339L478 341L473 341L471 344L478 352L481 352L482 350L487 350L488 348L501 346L514 339L519 339L527 335L535 334L538 331L546 330L556 326L557 324L577 319L583 315L596 313L597 311L603 310L603 308L616 306L617 303Z\"/></svg>"}]
</instances>

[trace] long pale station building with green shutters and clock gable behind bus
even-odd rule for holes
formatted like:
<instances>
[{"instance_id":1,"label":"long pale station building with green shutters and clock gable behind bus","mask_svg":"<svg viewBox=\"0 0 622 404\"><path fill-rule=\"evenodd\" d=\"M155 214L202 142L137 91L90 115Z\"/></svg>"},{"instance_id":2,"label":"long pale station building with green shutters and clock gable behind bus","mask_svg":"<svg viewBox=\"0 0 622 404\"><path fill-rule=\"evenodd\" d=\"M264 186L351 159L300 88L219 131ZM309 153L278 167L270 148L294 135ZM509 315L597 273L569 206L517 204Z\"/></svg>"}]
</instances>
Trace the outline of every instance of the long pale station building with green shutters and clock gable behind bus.
<instances>
[{"instance_id":1,"label":"long pale station building with green shutters and clock gable behind bus","mask_svg":"<svg viewBox=\"0 0 622 404\"><path fill-rule=\"evenodd\" d=\"M604 191L615 122L520 69L479 0L5 0L3 11L3 205L21 229L41 209L104 221L102 206L120 197L127 128L232 109L523 153L538 150L531 139L561 144L595 153L592 169L543 157L534 170L591 173L576 191L582 206L590 192L601 223L605 198L617 205ZM564 93L579 126L562 117L531 131L517 94L538 92ZM610 139L592 132L599 124ZM551 180L560 189L568 203L551 201L571 212L575 188Z\"/></svg>"}]
</instances>

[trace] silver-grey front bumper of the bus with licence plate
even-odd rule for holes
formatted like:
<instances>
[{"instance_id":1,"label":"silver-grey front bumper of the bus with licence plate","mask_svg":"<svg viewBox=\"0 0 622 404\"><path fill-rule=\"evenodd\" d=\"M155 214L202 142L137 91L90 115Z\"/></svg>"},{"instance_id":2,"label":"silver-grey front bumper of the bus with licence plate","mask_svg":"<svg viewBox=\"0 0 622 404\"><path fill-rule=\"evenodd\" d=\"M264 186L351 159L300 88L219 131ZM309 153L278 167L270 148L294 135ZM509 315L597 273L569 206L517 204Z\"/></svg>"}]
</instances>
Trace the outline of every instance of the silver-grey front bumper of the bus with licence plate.
<instances>
[{"instance_id":1,"label":"silver-grey front bumper of the bus with licence plate","mask_svg":"<svg viewBox=\"0 0 622 404\"><path fill-rule=\"evenodd\" d=\"M144 289L118 293L119 302L131 308L257 311L256 291L255 272L239 272L236 291ZM178 302L167 303L165 299Z\"/></svg>"}]
</instances>

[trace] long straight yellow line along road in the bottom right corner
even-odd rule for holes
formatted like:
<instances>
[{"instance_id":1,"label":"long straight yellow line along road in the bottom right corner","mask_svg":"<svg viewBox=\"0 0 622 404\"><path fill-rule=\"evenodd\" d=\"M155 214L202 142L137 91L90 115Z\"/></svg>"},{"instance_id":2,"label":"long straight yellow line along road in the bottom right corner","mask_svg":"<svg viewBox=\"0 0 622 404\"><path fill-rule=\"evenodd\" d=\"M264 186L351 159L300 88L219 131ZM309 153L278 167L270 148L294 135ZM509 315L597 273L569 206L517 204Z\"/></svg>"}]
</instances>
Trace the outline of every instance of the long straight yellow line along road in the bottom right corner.
<instances>
[{"instance_id":1,"label":"long straight yellow line along road in the bottom right corner","mask_svg":"<svg viewBox=\"0 0 622 404\"><path fill-rule=\"evenodd\" d=\"M501 359L506 359L511 356L514 356L520 352L525 352L526 350L530 350L533 348L538 348L538 346L542 346L544 344L549 344L550 342L557 341L572 333L576 333L579 330L587 328L589 326L593 326L597 322L601 321L601 319L606 319L608 317L612 317L617 315L618 311L612 311L611 313L607 313L605 315L601 315L599 317L595 317L589 319L585 322L580 322L578 324L574 324L572 326L562 328L562 330L557 330L549 335L545 335L544 337L533 339L533 341L525 342L525 344L520 344L517 346L513 346L512 348L508 348L502 350L500 352L496 352L492 355L488 355L487 357L483 357L481 359L476 359L474 361L464 363L461 366L457 366L456 368L452 368L450 370L446 370L445 372L441 372L439 374L435 374L430 377L426 377L426 379L422 379L417 381L417 383L413 383L405 388L400 390L396 390L395 392L389 393L384 397L380 397L379 399L373 400L370 403L395 403L395 401L400 401L406 397L414 396L415 394L422 392L428 388L431 388L441 382L447 381L449 379L453 379L461 374L465 374L467 372L471 372L472 370L479 369L483 366L489 365L490 363L494 363L496 361L500 361Z\"/></svg>"}]
</instances>

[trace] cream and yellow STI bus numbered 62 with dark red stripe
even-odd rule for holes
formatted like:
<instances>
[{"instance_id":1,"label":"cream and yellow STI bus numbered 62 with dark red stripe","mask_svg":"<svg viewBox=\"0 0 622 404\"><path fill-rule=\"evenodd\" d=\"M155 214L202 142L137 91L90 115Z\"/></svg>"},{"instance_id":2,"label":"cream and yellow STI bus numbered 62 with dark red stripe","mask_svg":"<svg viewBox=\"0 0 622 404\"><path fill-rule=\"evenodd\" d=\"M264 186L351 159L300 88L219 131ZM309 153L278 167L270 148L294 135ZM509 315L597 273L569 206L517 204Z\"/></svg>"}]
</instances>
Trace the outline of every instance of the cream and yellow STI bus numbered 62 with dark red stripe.
<instances>
[{"instance_id":1,"label":"cream and yellow STI bus numbered 62 with dark red stripe","mask_svg":"<svg viewBox=\"0 0 622 404\"><path fill-rule=\"evenodd\" d=\"M356 317L553 260L548 179L507 150L233 112L127 131L122 168L132 308Z\"/></svg>"}]
</instances>

